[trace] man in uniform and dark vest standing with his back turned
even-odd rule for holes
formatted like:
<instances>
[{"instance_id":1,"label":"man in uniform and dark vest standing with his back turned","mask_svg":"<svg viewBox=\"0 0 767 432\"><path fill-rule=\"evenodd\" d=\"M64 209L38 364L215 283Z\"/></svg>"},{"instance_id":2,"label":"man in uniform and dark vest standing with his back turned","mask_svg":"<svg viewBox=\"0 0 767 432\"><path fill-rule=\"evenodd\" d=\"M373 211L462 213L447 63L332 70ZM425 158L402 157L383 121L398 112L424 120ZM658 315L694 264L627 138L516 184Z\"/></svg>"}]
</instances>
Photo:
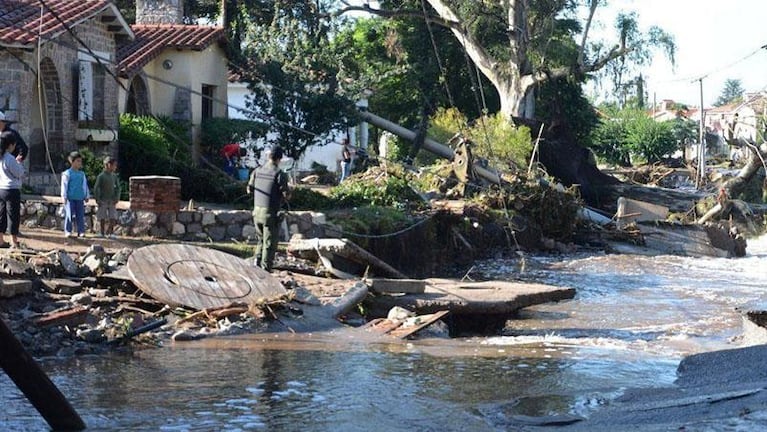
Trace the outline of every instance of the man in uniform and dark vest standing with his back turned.
<instances>
[{"instance_id":1,"label":"man in uniform and dark vest standing with his back turned","mask_svg":"<svg viewBox=\"0 0 767 432\"><path fill-rule=\"evenodd\" d=\"M248 180L248 193L253 194L253 224L260 237L255 264L266 271L272 271L277 251L280 207L283 200L290 198L288 175L280 169L280 160L282 148L274 147L269 161L256 168Z\"/></svg>"}]
</instances>

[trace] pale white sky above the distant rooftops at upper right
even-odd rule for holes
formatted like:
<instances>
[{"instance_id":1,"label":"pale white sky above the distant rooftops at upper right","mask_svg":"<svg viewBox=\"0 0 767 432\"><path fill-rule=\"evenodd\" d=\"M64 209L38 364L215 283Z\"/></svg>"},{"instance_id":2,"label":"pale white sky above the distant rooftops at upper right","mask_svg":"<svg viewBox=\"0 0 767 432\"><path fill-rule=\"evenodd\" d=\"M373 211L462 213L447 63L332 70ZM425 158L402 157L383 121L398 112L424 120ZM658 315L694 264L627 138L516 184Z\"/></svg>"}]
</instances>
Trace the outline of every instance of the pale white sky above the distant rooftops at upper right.
<instances>
[{"instance_id":1,"label":"pale white sky above the distant rooftops at upper right","mask_svg":"<svg viewBox=\"0 0 767 432\"><path fill-rule=\"evenodd\" d=\"M700 105L696 80L702 76L706 107L727 79L739 79L747 92L767 90L767 49L760 49L767 44L767 0L608 1L599 15L606 27L612 27L615 11L634 10L641 29L657 25L676 40L676 67L658 53L644 72L649 103L655 98Z\"/></svg>"}]
</instances>

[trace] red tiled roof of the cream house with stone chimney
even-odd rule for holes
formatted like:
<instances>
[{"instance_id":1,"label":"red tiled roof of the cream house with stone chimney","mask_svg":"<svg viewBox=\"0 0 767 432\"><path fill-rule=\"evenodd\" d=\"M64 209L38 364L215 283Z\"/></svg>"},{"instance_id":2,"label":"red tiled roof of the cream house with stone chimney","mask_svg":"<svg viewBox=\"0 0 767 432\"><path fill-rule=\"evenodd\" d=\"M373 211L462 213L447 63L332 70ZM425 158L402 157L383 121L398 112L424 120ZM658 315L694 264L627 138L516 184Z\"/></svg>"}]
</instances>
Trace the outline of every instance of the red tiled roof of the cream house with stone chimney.
<instances>
[{"instance_id":1,"label":"red tiled roof of the cream house with stone chimney","mask_svg":"<svg viewBox=\"0 0 767 432\"><path fill-rule=\"evenodd\" d=\"M136 39L120 45L117 50L118 72L131 76L157 58L166 48L202 51L216 42L226 40L221 27L142 24L131 26Z\"/></svg>"}]
</instances>

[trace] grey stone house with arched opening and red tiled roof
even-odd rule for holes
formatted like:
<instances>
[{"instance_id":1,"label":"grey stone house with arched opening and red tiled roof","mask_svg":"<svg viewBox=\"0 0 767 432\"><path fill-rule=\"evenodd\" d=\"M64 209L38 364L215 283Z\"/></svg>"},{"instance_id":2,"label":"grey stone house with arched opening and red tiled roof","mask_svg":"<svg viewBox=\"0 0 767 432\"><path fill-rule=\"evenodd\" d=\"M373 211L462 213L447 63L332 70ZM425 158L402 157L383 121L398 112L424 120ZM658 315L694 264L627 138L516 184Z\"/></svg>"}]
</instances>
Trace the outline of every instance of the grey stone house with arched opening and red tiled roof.
<instances>
[{"instance_id":1,"label":"grey stone house with arched opening and red tiled roof","mask_svg":"<svg viewBox=\"0 0 767 432\"><path fill-rule=\"evenodd\" d=\"M0 0L0 110L32 172L55 176L82 146L116 154L115 51L133 32L106 0Z\"/></svg>"}]
</instances>

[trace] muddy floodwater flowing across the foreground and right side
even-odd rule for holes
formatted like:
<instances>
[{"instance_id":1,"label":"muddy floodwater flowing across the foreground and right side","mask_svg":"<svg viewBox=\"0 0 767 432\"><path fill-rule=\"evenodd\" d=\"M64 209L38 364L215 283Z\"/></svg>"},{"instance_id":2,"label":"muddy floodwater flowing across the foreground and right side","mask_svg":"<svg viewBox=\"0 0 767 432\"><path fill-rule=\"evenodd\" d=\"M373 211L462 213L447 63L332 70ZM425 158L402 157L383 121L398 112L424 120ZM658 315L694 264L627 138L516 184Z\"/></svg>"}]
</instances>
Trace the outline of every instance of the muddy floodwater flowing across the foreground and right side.
<instances>
[{"instance_id":1,"label":"muddy floodwater flowing across the foreground and right side","mask_svg":"<svg viewBox=\"0 0 767 432\"><path fill-rule=\"evenodd\" d=\"M686 354L740 346L736 308L767 297L767 238L749 252L480 263L578 290L496 337L240 336L43 367L89 430L506 430L517 414L588 415L627 387L671 384ZM5 375L0 404L2 430L47 430Z\"/></svg>"}]
</instances>

